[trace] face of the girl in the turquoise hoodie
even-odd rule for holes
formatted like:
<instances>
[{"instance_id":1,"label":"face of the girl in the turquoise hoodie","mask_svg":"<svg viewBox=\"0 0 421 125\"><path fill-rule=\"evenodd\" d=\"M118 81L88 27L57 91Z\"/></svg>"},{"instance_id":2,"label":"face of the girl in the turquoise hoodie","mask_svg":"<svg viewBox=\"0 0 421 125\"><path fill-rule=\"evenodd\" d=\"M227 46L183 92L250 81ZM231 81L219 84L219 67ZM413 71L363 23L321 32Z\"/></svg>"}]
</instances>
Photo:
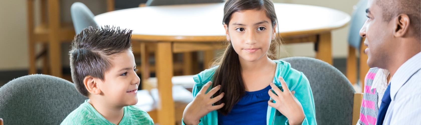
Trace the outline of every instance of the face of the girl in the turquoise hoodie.
<instances>
[{"instance_id":1,"label":"face of the girl in the turquoise hoodie","mask_svg":"<svg viewBox=\"0 0 421 125\"><path fill-rule=\"evenodd\" d=\"M240 57L240 61L253 62L267 57L276 30L262 10L245 10L232 13L229 26L224 24L226 39Z\"/></svg>"}]
</instances>

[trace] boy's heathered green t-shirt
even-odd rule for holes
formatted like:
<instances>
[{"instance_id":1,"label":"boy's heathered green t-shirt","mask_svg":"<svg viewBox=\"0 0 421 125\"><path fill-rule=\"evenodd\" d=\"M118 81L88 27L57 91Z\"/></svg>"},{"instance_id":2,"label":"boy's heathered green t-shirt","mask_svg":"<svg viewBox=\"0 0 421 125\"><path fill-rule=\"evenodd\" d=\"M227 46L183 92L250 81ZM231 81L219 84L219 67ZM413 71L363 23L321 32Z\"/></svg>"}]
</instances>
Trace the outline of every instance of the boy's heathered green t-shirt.
<instances>
[{"instance_id":1,"label":"boy's heathered green t-shirt","mask_svg":"<svg viewBox=\"0 0 421 125\"><path fill-rule=\"evenodd\" d=\"M70 112L60 125L115 125L105 119L88 100ZM149 114L136 106L124 107L123 119L119 125L154 125Z\"/></svg>"}]
</instances>

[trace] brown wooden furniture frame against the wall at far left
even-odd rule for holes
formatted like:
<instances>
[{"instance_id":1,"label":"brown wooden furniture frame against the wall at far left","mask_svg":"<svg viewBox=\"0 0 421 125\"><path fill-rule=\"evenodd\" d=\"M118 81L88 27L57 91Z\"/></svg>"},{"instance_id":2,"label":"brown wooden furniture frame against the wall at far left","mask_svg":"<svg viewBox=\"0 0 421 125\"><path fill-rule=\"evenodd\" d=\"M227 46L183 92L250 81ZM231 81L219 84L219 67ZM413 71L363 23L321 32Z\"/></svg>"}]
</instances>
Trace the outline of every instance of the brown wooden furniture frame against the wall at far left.
<instances>
[{"instance_id":1,"label":"brown wooden furniture frame against the wall at far left","mask_svg":"<svg viewBox=\"0 0 421 125\"><path fill-rule=\"evenodd\" d=\"M61 66L61 43L71 41L75 30L70 23L60 21L60 1L40 0L41 23L34 24L34 2L27 0L29 74L37 73L36 61L43 58L43 73L63 77ZM114 10L115 0L107 0L107 10ZM43 51L36 55L35 45L43 44Z\"/></svg>"}]
</instances>

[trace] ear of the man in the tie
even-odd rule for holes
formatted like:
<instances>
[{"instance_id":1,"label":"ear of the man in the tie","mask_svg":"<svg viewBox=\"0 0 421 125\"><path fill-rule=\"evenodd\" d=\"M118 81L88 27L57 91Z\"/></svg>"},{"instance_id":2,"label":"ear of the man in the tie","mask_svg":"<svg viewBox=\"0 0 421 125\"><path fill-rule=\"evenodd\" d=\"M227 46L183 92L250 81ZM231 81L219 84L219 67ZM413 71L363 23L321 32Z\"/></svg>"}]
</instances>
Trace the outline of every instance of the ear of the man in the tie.
<instances>
[{"instance_id":1,"label":"ear of the man in the tie","mask_svg":"<svg viewBox=\"0 0 421 125\"><path fill-rule=\"evenodd\" d=\"M399 14L395 18L393 18L392 23L394 25L393 36L395 37L403 37L405 34L408 33L409 29L409 16L406 14Z\"/></svg>"}]
</instances>

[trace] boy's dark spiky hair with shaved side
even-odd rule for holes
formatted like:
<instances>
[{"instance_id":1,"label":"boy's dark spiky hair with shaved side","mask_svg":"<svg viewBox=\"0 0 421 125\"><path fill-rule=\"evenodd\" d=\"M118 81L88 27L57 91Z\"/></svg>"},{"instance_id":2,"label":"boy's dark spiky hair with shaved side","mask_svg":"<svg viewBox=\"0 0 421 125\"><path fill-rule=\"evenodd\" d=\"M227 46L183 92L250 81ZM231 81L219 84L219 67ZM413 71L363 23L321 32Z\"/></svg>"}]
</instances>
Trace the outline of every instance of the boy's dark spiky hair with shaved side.
<instances>
[{"instance_id":1,"label":"boy's dark spiky hair with shaved side","mask_svg":"<svg viewBox=\"0 0 421 125\"><path fill-rule=\"evenodd\" d=\"M132 30L120 27L89 26L75 36L69 51L70 70L80 94L88 96L83 83L86 76L104 80L104 73L112 66L109 60L125 50L131 51L131 34Z\"/></svg>"}]
</instances>

